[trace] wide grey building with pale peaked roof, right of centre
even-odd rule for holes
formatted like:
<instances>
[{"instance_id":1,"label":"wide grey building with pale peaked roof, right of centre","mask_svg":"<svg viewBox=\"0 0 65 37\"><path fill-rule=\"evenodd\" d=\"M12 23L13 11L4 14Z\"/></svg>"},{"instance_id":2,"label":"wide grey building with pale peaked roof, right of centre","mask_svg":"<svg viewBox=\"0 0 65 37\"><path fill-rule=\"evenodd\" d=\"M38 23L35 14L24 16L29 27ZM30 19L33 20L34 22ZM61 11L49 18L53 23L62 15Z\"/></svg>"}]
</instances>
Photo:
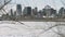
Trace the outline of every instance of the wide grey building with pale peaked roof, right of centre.
<instances>
[{"instance_id":1,"label":"wide grey building with pale peaked roof, right of centre","mask_svg":"<svg viewBox=\"0 0 65 37\"><path fill-rule=\"evenodd\" d=\"M53 17L55 13L56 13L56 10L52 9L50 5L46 5L43 9L43 14L46 17Z\"/></svg>"}]
</instances>

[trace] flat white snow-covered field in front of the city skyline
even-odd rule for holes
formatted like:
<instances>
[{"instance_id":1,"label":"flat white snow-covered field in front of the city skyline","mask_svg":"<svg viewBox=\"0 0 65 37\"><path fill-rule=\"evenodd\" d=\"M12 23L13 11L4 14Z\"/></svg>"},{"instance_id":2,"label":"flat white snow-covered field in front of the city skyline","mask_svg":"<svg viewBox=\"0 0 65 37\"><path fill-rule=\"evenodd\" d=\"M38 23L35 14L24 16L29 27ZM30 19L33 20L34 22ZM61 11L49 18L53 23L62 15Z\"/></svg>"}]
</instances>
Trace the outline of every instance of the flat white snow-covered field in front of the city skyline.
<instances>
[{"instance_id":1,"label":"flat white snow-covered field in front of the city skyline","mask_svg":"<svg viewBox=\"0 0 65 37\"><path fill-rule=\"evenodd\" d=\"M14 21L0 21L0 37L57 37L52 29L44 32L44 29L55 25L56 22L22 23L23 24Z\"/></svg>"}]
</instances>

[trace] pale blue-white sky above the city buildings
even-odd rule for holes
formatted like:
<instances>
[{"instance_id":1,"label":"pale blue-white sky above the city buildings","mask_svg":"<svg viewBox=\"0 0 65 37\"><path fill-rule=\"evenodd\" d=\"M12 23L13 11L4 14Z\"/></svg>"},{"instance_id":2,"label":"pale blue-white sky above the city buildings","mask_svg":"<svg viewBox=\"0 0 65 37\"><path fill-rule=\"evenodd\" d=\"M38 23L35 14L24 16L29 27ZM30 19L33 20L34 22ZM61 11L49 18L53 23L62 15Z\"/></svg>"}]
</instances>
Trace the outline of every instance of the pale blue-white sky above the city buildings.
<instances>
[{"instance_id":1,"label":"pale blue-white sky above the city buildings","mask_svg":"<svg viewBox=\"0 0 65 37\"><path fill-rule=\"evenodd\" d=\"M65 2L65 0L62 1ZM9 12L10 9L13 9L15 11L16 4L22 4L22 9L25 7L31 7L32 9L37 7L38 10L42 10L46 5L50 5L57 11L64 7L61 0L12 0L8 5L4 7L4 9L6 12Z\"/></svg>"}]
</instances>

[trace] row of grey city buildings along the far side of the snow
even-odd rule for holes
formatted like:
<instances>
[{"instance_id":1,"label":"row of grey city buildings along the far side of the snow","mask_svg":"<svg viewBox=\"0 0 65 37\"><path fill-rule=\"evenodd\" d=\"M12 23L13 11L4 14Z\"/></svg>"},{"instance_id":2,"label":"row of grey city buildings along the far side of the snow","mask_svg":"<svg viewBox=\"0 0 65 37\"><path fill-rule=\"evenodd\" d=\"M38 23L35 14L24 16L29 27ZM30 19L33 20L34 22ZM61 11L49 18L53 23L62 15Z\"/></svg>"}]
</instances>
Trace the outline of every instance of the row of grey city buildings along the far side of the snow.
<instances>
[{"instance_id":1,"label":"row of grey city buildings along the far side of the snow","mask_svg":"<svg viewBox=\"0 0 65 37\"><path fill-rule=\"evenodd\" d=\"M10 14L11 13L11 14ZM6 14L2 14L1 16L3 20L27 20L27 18L65 18L65 9L60 8L58 13L54 8L51 5L46 5L42 8L42 10L38 11L38 8L36 7L32 9L31 7L25 7L24 10L22 11L21 4L16 4L16 10L13 11L11 9Z\"/></svg>"}]
</instances>

